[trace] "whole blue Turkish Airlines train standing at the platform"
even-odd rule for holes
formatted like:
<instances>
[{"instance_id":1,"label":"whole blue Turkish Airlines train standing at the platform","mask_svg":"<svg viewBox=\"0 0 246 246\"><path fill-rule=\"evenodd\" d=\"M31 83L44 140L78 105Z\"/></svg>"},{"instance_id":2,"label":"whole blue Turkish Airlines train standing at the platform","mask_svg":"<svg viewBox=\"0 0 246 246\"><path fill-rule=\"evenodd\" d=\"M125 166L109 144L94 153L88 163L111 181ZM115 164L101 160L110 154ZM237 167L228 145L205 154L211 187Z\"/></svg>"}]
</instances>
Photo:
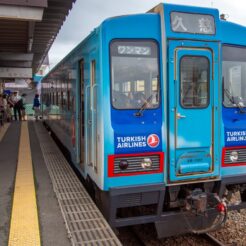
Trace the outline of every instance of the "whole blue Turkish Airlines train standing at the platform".
<instances>
[{"instance_id":1,"label":"whole blue Turkish Airlines train standing at the platform","mask_svg":"<svg viewBox=\"0 0 246 246\"><path fill-rule=\"evenodd\" d=\"M42 80L42 102L113 227L204 233L246 207L246 28L217 9L105 20Z\"/></svg>"}]
</instances>

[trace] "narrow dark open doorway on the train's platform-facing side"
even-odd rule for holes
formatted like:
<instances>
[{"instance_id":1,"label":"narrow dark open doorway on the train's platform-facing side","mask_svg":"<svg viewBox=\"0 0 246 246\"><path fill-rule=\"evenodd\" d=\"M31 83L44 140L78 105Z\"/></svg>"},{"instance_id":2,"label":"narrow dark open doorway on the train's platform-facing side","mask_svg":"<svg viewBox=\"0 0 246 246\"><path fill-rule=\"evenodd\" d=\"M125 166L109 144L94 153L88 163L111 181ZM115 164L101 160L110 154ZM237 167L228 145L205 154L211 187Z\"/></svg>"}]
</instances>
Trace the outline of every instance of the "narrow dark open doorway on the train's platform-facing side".
<instances>
[{"instance_id":1,"label":"narrow dark open doorway on the train's platform-facing side","mask_svg":"<svg viewBox=\"0 0 246 246\"><path fill-rule=\"evenodd\" d=\"M84 171L84 159L85 159L85 150L84 150L84 143L85 143L85 96L84 96L84 60L82 59L79 63L79 71L80 71L80 166Z\"/></svg>"}]
</instances>

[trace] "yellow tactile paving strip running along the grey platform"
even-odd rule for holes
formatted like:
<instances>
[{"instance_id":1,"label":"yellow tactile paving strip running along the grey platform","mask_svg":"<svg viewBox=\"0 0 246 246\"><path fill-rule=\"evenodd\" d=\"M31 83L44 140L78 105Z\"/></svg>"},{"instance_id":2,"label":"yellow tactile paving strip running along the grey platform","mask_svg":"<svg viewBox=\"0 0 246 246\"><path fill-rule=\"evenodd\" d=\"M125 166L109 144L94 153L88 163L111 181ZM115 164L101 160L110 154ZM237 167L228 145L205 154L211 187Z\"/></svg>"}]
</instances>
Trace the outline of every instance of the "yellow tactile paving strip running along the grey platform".
<instances>
[{"instance_id":1,"label":"yellow tactile paving strip running along the grey platform","mask_svg":"<svg viewBox=\"0 0 246 246\"><path fill-rule=\"evenodd\" d=\"M27 122L22 122L21 125L8 245L41 245Z\"/></svg>"}]
</instances>

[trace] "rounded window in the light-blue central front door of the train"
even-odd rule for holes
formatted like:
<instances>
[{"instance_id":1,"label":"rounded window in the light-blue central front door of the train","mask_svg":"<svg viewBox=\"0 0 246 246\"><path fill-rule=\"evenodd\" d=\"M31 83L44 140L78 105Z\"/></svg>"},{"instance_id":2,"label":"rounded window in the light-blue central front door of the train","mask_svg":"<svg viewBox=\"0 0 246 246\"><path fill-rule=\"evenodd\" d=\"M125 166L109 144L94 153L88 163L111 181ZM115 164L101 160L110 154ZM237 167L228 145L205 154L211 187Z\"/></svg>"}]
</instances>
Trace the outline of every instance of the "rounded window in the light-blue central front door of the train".
<instances>
[{"instance_id":1,"label":"rounded window in the light-blue central front door of the train","mask_svg":"<svg viewBox=\"0 0 246 246\"><path fill-rule=\"evenodd\" d=\"M206 108L209 104L209 60L205 56L183 56L180 60L180 101L184 108Z\"/></svg>"}]
</instances>

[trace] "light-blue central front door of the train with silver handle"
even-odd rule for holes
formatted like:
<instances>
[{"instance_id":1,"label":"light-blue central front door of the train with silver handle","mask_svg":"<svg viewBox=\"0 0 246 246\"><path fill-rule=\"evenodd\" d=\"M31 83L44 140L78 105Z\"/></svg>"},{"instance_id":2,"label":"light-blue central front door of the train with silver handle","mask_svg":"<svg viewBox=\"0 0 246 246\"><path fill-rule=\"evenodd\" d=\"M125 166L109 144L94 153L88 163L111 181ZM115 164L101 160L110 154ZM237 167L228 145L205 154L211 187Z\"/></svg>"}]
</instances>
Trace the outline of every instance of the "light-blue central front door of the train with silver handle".
<instances>
[{"instance_id":1,"label":"light-blue central front door of the train with silver handle","mask_svg":"<svg viewBox=\"0 0 246 246\"><path fill-rule=\"evenodd\" d=\"M170 41L169 181L219 173L218 46Z\"/></svg>"}]
</instances>

